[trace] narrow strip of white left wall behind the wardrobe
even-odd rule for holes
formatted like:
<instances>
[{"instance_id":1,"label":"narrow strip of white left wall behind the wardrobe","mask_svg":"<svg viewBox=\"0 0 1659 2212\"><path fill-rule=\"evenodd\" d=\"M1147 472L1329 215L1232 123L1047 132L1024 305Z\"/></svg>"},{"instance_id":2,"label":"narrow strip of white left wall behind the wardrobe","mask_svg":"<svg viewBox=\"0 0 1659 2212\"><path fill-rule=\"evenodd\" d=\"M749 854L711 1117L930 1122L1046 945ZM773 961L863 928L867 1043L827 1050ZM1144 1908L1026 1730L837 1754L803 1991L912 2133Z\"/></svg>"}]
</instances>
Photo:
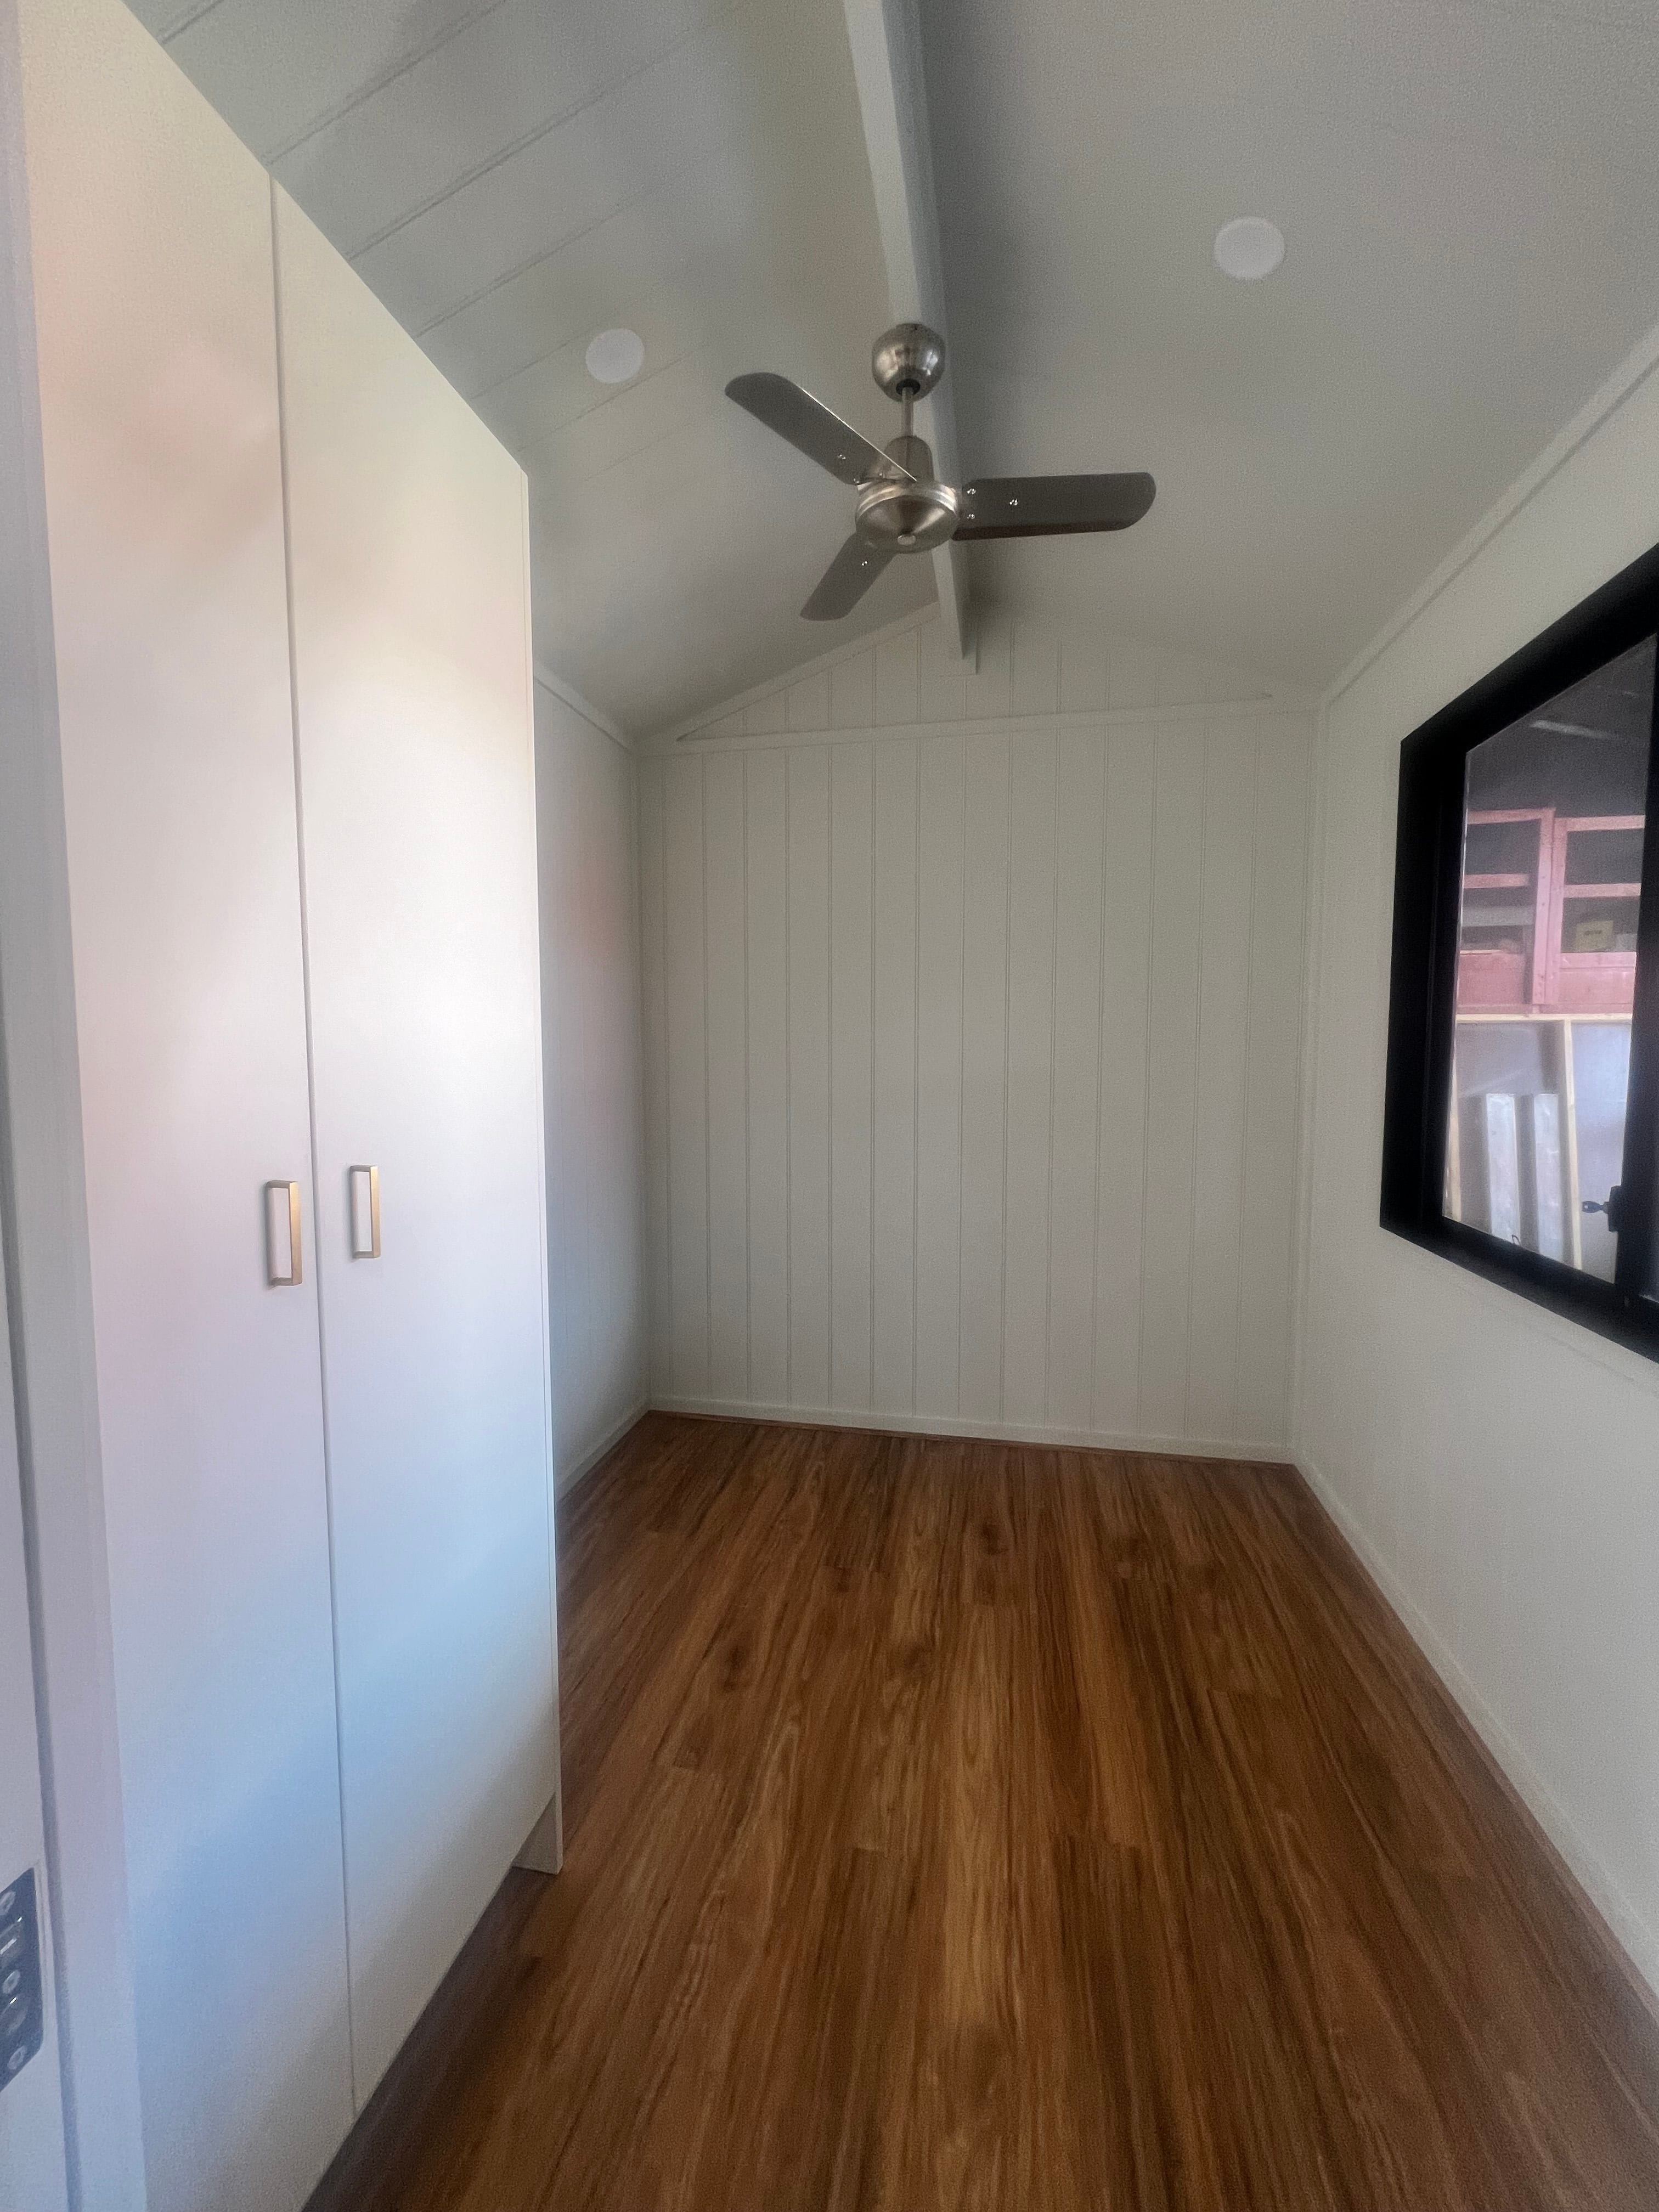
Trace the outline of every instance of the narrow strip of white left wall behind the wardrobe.
<instances>
[{"instance_id":1,"label":"narrow strip of white left wall behind the wardrobe","mask_svg":"<svg viewBox=\"0 0 1659 2212\"><path fill-rule=\"evenodd\" d=\"M535 686L553 1442L564 1491L646 1398L633 754Z\"/></svg>"}]
</instances>

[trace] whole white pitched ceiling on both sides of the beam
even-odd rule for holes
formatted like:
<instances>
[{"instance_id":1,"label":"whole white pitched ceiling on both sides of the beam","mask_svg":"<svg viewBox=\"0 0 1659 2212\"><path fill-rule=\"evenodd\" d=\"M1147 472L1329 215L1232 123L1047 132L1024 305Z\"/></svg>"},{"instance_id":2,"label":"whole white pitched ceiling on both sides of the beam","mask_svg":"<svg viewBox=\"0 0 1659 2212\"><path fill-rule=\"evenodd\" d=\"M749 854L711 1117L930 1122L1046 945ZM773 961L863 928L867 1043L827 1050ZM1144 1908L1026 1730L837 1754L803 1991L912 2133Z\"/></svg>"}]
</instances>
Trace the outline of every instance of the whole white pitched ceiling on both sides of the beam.
<instances>
[{"instance_id":1,"label":"whole white pitched ceiling on both sides of the beam","mask_svg":"<svg viewBox=\"0 0 1659 2212\"><path fill-rule=\"evenodd\" d=\"M1321 681L1659 316L1659 0L918 0L980 473L1150 467L975 595ZM847 495L721 396L885 436L843 0L139 0L531 471L538 655L633 730L933 595L799 606ZM1237 285L1228 217L1283 270ZM646 369L591 383L630 323Z\"/></svg>"}]
</instances>

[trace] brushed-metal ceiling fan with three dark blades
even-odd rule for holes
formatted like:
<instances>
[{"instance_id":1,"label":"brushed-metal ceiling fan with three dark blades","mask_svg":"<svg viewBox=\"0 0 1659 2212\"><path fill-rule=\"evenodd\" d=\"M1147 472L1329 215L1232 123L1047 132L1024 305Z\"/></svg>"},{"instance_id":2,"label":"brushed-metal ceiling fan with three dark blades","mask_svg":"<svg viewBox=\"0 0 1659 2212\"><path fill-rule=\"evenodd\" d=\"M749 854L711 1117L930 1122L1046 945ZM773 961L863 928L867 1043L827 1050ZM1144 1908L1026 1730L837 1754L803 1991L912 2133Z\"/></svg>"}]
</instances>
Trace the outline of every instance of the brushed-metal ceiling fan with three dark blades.
<instances>
[{"instance_id":1,"label":"brushed-metal ceiling fan with three dark blades","mask_svg":"<svg viewBox=\"0 0 1659 2212\"><path fill-rule=\"evenodd\" d=\"M1157 487L1146 473L980 476L960 491L940 484L911 416L916 400L945 374L945 338L927 323L896 323L876 338L869 374L905 411L900 434L885 447L872 445L787 376L754 369L726 387L728 400L858 493L852 538L801 608L807 622L836 622L852 613L896 553L929 553L947 538L1126 531L1152 504Z\"/></svg>"}]
</instances>

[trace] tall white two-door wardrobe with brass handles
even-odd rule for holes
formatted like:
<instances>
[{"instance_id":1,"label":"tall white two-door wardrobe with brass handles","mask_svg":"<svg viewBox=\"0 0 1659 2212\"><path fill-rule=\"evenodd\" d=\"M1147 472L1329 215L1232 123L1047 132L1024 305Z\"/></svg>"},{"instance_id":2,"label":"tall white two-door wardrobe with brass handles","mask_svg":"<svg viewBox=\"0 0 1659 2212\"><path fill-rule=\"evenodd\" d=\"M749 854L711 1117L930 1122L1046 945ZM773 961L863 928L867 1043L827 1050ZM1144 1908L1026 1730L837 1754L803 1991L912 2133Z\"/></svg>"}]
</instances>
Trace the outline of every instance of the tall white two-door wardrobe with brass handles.
<instances>
[{"instance_id":1,"label":"tall white two-door wardrobe with brass handles","mask_svg":"<svg viewBox=\"0 0 1659 2212\"><path fill-rule=\"evenodd\" d=\"M9 35L144 2170L294 2212L557 1827L526 487L117 0Z\"/></svg>"}]
</instances>

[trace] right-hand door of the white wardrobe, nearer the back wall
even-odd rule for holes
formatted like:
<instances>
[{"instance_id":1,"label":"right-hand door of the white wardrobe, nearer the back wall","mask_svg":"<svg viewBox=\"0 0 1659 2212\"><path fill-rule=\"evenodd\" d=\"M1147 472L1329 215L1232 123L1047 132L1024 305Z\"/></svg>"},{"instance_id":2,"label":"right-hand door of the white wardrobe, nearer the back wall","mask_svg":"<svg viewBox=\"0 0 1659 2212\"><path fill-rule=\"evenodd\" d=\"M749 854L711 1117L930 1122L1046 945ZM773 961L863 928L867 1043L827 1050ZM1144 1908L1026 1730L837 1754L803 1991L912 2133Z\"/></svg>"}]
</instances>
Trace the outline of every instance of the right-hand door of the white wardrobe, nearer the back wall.
<instances>
[{"instance_id":1,"label":"right-hand door of the white wardrobe, nearer the back wall","mask_svg":"<svg viewBox=\"0 0 1659 2212\"><path fill-rule=\"evenodd\" d=\"M363 2099L557 1785L526 507L281 192L276 272Z\"/></svg>"}]
</instances>

